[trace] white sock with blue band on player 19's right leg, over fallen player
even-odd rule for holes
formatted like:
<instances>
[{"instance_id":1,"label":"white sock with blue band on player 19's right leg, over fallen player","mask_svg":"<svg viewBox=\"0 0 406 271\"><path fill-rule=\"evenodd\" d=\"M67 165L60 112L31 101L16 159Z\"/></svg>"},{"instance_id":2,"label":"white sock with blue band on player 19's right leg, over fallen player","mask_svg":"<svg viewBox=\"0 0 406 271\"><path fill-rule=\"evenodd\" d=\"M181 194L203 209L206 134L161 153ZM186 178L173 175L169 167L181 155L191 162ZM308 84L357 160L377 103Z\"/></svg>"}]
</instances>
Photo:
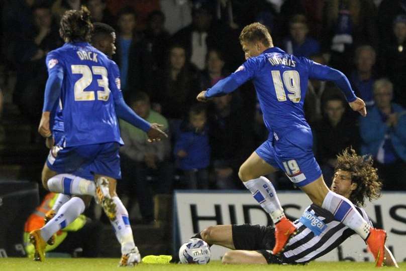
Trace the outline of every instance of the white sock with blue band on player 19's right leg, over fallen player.
<instances>
[{"instance_id":1,"label":"white sock with blue band on player 19's right leg, over fallen player","mask_svg":"<svg viewBox=\"0 0 406 271\"><path fill-rule=\"evenodd\" d=\"M371 226L346 197L330 191L323 200L322 208L330 211L335 220L354 230L362 239L368 237Z\"/></svg>"}]
</instances>

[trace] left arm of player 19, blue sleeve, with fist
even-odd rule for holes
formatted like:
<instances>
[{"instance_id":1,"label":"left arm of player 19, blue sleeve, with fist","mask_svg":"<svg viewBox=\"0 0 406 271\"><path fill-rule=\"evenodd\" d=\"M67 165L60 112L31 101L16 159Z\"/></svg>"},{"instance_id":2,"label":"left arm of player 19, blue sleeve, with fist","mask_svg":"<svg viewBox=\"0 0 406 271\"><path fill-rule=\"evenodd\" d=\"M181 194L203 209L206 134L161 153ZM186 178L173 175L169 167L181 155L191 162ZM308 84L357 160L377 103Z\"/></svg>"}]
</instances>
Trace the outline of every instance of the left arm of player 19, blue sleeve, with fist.
<instances>
[{"instance_id":1,"label":"left arm of player 19, blue sleeve, with fist","mask_svg":"<svg viewBox=\"0 0 406 271\"><path fill-rule=\"evenodd\" d=\"M201 91L197 95L197 100L207 101L212 97L223 96L236 90L254 76L257 67L255 61L254 58L249 58L235 72L220 80L211 88Z\"/></svg>"}]
</instances>

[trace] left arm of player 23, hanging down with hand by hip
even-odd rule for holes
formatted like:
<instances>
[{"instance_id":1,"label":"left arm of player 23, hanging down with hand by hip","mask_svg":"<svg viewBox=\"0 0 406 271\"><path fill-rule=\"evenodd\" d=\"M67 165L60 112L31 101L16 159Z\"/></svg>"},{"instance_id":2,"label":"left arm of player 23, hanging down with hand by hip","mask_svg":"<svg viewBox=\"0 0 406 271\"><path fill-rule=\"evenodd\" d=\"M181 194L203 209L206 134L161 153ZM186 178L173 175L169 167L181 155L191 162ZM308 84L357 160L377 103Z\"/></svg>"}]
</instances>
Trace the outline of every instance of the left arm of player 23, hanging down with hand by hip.
<instances>
[{"instance_id":1,"label":"left arm of player 23, hanging down with hand by hip","mask_svg":"<svg viewBox=\"0 0 406 271\"><path fill-rule=\"evenodd\" d=\"M42 116L38 132L45 138L52 135L49 126L51 112L55 109L58 99L61 95L63 82L63 68L58 62L55 55L49 54L46 59L48 67L48 80L45 85L44 106L42 108Z\"/></svg>"}]
</instances>

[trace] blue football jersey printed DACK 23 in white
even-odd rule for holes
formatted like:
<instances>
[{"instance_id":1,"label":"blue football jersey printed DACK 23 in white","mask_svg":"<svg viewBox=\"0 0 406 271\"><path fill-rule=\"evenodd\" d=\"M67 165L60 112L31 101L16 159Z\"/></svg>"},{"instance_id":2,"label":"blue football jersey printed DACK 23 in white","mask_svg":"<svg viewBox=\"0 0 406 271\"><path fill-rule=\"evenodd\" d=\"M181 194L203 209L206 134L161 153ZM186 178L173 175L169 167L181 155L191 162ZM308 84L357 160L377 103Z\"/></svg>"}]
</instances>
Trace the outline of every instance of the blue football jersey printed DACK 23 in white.
<instances>
[{"instance_id":1,"label":"blue football jersey printed DACK 23 in white","mask_svg":"<svg viewBox=\"0 0 406 271\"><path fill-rule=\"evenodd\" d=\"M88 43L66 43L49 52L46 63L48 71L64 74L54 125L63 122L65 146L123 144L113 97L117 65Z\"/></svg>"}]
</instances>

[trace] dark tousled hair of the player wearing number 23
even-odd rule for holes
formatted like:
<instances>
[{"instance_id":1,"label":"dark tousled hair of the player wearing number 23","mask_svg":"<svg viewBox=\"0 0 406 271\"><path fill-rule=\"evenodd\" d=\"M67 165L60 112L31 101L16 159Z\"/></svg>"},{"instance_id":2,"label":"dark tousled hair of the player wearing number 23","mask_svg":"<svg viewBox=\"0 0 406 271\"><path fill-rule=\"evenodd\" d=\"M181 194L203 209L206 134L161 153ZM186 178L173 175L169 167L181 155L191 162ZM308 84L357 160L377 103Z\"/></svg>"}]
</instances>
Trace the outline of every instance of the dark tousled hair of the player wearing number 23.
<instances>
[{"instance_id":1,"label":"dark tousled hair of the player wearing number 23","mask_svg":"<svg viewBox=\"0 0 406 271\"><path fill-rule=\"evenodd\" d=\"M65 42L89 42L93 25L89 10L82 6L80 11L69 10L62 16L59 34Z\"/></svg>"}]
</instances>

